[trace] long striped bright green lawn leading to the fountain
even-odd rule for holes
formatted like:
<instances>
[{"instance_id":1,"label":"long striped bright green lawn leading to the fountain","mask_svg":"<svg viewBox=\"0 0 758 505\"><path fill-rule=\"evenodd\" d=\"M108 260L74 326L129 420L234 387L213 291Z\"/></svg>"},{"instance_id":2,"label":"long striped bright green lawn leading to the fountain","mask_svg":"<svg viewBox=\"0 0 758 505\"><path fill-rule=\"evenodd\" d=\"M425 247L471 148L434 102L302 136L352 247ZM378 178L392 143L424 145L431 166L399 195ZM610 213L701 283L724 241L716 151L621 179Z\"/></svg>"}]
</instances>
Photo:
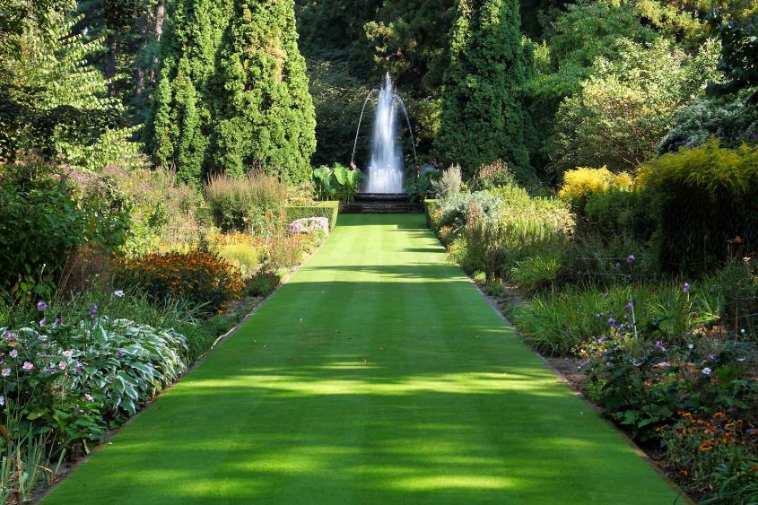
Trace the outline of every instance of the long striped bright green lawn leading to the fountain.
<instances>
[{"instance_id":1,"label":"long striped bright green lawn leading to the fountain","mask_svg":"<svg viewBox=\"0 0 758 505\"><path fill-rule=\"evenodd\" d=\"M46 503L672 503L421 215L327 244Z\"/></svg>"}]
</instances>

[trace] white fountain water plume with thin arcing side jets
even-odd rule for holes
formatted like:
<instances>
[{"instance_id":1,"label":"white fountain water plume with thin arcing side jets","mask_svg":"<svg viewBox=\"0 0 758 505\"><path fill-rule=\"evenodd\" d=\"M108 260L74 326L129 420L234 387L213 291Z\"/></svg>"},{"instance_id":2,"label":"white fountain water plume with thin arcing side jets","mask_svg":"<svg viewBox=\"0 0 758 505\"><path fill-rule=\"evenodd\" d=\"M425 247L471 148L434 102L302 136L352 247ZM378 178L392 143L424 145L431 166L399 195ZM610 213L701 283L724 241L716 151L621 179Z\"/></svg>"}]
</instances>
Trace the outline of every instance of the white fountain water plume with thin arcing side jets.
<instances>
[{"instance_id":1,"label":"white fountain water plume with thin arcing side jets","mask_svg":"<svg viewBox=\"0 0 758 505\"><path fill-rule=\"evenodd\" d=\"M369 91L366 100L363 101L361 118L358 119L358 130L355 132L351 166L355 165L355 149L358 146L358 135L361 131L363 113L366 110L366 105L369 102L371 95L377 92L379 93L379 100L374 116L370 162L368 170L366 170L368 172L368 177L366 178L362 190L365 194L370 195L404 195L403 155L400 151L397 135L396 104L399 104L405 113L405 121L408 125L408 131L411 136L411 145L414 151L414 160L416 158L416 148L408 111L405 109L405 103L403 100L397 95L389 74L387 74L382 88L380 90ZM418 162L416 162L416 165L418 165Z\"/></svg>"}]
</instances>

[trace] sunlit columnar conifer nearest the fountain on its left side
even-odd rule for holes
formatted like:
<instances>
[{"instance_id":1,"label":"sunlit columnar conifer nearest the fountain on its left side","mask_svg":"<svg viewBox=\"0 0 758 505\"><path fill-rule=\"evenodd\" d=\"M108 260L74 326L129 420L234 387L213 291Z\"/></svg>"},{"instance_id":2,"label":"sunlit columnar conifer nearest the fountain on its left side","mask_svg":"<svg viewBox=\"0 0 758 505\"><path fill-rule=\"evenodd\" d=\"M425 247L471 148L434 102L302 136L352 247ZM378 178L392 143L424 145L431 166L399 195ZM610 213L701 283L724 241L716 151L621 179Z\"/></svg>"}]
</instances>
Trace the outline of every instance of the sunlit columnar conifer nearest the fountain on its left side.
<instances>
[{"instance_id":1,"label":"sunlit columnar conifer nearest the fountain on its left side","mask_svg":"<svg viewBox=\"0 0 758 505\"><path fill-rule=\"evenodd\" d=\"M213 170L310 175L316 116L292 0L239 0L215 79Z\"/></svg>"}]
</instances>

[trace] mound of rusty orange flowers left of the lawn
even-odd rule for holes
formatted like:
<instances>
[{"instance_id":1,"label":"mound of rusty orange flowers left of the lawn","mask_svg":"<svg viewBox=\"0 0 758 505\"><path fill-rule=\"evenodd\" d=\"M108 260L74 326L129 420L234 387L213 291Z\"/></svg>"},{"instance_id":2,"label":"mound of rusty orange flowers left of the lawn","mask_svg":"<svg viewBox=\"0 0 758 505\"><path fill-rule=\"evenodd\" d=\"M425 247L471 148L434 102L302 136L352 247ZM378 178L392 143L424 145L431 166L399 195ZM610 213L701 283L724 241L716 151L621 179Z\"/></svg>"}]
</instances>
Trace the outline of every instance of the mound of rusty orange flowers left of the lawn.
<instances>
[{"instance_id":1,"label":"mound of rusty orange flowers left of the lawn","mask_svg":"<svg viewBox=\"0 0 758 505\"><path fill-rule=\"evenodd\" d=\"M149 254L122 260L114 282L143 290L153 300L186 300L215 313L244 290L240 270L222 257L203 250Z\"/></svg>"}]
</instances>

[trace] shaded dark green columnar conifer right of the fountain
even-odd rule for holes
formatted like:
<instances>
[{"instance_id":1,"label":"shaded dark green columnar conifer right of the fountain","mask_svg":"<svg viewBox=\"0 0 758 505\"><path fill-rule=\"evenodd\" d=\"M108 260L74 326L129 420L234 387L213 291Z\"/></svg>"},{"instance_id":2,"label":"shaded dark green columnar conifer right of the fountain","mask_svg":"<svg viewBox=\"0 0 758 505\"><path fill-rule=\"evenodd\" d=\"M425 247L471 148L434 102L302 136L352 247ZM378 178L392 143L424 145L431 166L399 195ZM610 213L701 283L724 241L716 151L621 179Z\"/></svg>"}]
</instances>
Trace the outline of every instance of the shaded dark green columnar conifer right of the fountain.
<instances>
[{"instance_id":1,"label":"shaded dark green columnar conifer right of the fountain","mask_svg":"<svg viewBox=\"0 0 758 505\"><path fill-rule=\"evenodd\" d=\"M482 163L507 161L529 178L525 112L518 90L526 79L517 0L457 1L444 78L436 148L446 163L471 175Z\"/></svg>"}]
</instances>

